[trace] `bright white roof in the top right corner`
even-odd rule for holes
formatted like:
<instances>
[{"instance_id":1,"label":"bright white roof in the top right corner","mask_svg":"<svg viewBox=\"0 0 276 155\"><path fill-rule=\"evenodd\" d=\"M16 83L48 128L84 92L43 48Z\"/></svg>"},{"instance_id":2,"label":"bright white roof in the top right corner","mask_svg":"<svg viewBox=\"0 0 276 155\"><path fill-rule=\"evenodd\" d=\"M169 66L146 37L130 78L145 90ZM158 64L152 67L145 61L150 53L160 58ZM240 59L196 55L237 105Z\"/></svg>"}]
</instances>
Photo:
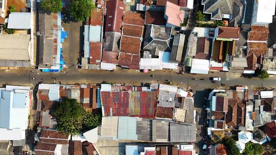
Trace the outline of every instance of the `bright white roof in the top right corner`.
<instances>
[{"instance_id":1,"label":"bright white roof in the top right corner","mask_svg":"<svg viewBox=\"0 0 276 155\"><path fill-rule=\"evenodd\" d=\"M272 23L275 15L275 0L255 0L252 13L252 24L266 25Z\"/></svg>"}]
</instances>

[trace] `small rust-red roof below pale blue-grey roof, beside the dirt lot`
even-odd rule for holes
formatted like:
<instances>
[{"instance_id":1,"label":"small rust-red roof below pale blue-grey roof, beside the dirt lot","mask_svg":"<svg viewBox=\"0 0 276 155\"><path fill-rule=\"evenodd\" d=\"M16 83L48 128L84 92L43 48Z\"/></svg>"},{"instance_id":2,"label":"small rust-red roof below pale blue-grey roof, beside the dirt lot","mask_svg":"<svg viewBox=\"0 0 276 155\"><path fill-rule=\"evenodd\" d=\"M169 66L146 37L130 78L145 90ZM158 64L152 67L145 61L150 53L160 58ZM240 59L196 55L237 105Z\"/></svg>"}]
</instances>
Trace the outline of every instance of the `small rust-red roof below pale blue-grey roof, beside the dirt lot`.
<instances>
[{"instance_id":1,"label":"small rust-red roof below pale blue-grey roof, beside the dirt lot","mask_svg":"<svg viewBox=\"0 0 276 155\"><path fill-rule=\"evenodd\" d=\"M90 64L99 65L101 62L102 42L90 42Z\"/></svg>"}]
</instances>

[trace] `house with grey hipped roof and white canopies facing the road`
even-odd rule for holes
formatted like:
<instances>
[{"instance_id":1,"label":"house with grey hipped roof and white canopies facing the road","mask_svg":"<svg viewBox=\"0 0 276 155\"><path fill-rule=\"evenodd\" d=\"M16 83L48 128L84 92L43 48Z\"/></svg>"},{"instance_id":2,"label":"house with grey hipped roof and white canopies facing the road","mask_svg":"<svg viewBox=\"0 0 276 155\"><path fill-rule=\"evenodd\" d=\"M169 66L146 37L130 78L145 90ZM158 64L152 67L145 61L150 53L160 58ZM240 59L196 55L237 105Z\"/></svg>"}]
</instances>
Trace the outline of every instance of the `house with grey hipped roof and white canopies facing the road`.
<instances>
[{"instance_id":1,"label":"house with grey hipped roof and white canopies facing the road","mask_svg":"<svg viewBox=\"0 0 276 155\"><path fill-rule=\"evenodd\" d=\"M177 69L178 63L170 61L173 27L147 25L140 69Z\"/></svg>"}]
</instances>

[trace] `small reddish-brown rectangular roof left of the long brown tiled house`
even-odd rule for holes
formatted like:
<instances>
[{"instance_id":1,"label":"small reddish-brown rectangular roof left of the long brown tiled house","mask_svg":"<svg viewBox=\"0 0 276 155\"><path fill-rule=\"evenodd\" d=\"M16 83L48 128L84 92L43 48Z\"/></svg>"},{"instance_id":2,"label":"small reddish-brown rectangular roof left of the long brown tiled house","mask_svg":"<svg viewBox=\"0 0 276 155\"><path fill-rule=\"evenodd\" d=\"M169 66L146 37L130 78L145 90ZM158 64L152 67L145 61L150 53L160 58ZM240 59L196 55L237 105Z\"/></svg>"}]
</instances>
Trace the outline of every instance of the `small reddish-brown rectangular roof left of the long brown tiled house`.
<instances>
[{"instance_id":1,"label":"small reddish-brown rectangular roof left of the long brown tiled house","mask_svg":"<svg viewBox=\"0 0 276 155\"><path fill-rule=\"evenodd\" d=\"M239 39L240 28L218 27L218 37L228 39Z\"/></svg>"}]
</instances>

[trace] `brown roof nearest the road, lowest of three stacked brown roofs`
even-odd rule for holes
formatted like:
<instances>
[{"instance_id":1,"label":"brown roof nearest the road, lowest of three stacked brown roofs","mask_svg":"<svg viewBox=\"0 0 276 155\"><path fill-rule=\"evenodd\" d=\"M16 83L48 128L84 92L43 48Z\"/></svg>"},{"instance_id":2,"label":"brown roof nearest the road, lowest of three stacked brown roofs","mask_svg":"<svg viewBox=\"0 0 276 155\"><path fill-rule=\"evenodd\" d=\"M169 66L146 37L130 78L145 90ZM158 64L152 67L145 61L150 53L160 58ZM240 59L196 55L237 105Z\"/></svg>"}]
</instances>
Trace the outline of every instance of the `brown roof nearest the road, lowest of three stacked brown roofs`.
<instances>
[{"instance_id":1,"label":"brown roof nearest the road, lowest of three stacked brown roofs","mask_svg":"<svg viewBox=\"0 0 276 155\"><path fill-rule=\"evenodd\" d=\"M139 69L139 55L120 53L118 65L127 66L129 69Z\"/></svg>"}]
</instances>

